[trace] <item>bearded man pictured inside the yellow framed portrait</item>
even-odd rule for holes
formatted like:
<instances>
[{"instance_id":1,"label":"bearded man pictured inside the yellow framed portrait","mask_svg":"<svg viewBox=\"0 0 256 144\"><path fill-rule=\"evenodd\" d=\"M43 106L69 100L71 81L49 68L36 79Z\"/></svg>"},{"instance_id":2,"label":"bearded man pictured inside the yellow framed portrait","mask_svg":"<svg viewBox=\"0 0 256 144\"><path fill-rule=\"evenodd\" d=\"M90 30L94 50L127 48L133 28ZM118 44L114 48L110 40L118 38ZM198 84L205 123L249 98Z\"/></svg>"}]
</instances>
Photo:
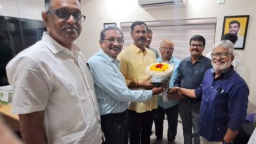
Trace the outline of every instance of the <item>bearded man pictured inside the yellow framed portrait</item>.
<instances>
[{"instance_id":1,"label":"bearded man pictured inside the yellow framed portrait","mask_svg":"<svg viewBox=\"0 0 256 144\"><path fill-rule=\"evenodd\" d=\"M235 48L242 48L244 43L244 37L238 34L239 30L240 22L238 22L237 20L232 20L231 22L229 22L229 33L238 36L238 41L236 41L236 44L234 45Z\"/></svg>"}]
</instances>

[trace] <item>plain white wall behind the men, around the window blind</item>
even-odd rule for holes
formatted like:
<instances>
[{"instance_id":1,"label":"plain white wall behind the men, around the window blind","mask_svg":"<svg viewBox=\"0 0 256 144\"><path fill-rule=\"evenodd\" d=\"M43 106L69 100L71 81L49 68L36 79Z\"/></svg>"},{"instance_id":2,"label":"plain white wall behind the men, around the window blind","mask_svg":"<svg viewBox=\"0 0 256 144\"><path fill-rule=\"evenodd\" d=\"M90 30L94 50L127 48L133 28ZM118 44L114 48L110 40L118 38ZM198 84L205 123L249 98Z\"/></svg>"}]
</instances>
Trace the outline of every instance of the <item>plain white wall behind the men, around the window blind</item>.
<instances>
[{"instance_id":1,"label":"plain white wall behind the men, around the window blind","mask_svg":"<svg viewBox=\"0 0 256 144\"><path fill-rule=\"evenodd\" d=\"M18 3L16 2L18 1ZM0 15L20 16L41 20L44 0L0 0ZM81 36L75 41L82 48L85 58L98 51L98 39L103 23L134 22L136 20L177 20L187 18L217 18L215 42L221 39L223 17L232 15L250 15L245 50L236 50L245 57L245 80L249 85L248 113L256 112L256 67L253 66L256 56L256 1L226 0L218 5L217 0L186 0L186 7L165 7L141 9L137 0L81 0L82 13L87 16L83 22ZM18 9L17 9L18 6ZM154 35L153 35L154 39ZM254 75L253 75L254 74ZM255 88L255 89L254 89Z\"/></svg>"}]
</instances>

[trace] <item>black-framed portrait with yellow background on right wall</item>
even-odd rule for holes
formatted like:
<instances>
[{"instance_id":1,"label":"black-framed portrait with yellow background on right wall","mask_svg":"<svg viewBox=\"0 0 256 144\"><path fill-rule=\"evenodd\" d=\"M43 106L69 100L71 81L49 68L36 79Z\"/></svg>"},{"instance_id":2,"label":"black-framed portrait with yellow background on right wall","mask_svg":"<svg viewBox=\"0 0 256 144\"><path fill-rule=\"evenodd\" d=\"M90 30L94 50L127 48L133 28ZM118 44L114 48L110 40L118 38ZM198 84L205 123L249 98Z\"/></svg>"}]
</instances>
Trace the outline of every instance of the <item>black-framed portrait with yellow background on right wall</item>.
<instances>
[{"instance_id":1,"label":"black-framed portrait with yellow background on right wall","mask_svg":"<svg viewBox=\"0 0 256 144\"><path fill-rule=\"evenodd\" d=\"M234 45L234 49L244 50L247 28L249 24L249 15L240 16L224 16L223 33L234 33L238 36L238 40Z\"/></svg>"}]
</instances>

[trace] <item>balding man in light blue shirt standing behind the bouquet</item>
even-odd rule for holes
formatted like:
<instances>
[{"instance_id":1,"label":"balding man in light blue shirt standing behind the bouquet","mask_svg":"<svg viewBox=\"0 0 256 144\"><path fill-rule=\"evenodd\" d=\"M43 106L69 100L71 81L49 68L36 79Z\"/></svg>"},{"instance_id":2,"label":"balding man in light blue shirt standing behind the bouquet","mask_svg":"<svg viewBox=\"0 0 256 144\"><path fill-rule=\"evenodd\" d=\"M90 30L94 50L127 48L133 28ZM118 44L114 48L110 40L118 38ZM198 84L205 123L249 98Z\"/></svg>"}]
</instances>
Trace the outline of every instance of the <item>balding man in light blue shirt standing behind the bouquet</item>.
<instances>
[{"instance_id":1,"label":"balding man in light blue shirt standing behind the bouquet","mask_svg":"<svg viewBox=\"0 0 256 144\"><path fill-rule=\"evenodd\" d=\"M177 68L181 60L173 57L174 45L173 42L169 39L164 39L160 43L160 53L161 58L158 58L157 62L166 62L173 65L173 75L171 75L170 87L173 86L173 83L177 77ZM177 134L177 126L178 126L178 108L179 101L176 100L167 100L163 101L161 96L158 97L158 109L156 111L155 129L156 129L156 139L161 141L163 139L163 120L165 114L168 120L168 132L167 139L169 142L175 140Z\"/></svg>"}]
</instances>

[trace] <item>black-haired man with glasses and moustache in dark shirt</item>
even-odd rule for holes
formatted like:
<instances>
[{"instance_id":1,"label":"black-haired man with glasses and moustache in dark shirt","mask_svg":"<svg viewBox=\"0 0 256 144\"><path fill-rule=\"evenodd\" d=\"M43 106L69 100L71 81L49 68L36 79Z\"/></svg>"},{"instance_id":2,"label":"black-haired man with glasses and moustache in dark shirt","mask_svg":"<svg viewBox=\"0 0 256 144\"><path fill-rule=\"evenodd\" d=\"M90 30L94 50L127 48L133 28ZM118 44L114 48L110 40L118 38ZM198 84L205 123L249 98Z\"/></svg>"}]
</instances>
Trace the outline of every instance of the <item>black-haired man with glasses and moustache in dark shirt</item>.
<instances>
[{"instance_id":1,"label":"black-haired man with glasses and moustache in dark shirt","mask_svg":"<svg viewBox=\"0 0 256 144\"><path fill-rule=\"evenodd\" d=\"M211 60L202 55L205 39L201 35L194 35L189 42L191 56L181 61L178 67L178 75L174 85L182 88L198 88L203 75L211 68ZM200 99L184 97L179 101L179 114L182 120L184 144L200 143L199 133L199 111ZM194 134L192 133L192 130Z\"/></svg>"}]
</instances>

